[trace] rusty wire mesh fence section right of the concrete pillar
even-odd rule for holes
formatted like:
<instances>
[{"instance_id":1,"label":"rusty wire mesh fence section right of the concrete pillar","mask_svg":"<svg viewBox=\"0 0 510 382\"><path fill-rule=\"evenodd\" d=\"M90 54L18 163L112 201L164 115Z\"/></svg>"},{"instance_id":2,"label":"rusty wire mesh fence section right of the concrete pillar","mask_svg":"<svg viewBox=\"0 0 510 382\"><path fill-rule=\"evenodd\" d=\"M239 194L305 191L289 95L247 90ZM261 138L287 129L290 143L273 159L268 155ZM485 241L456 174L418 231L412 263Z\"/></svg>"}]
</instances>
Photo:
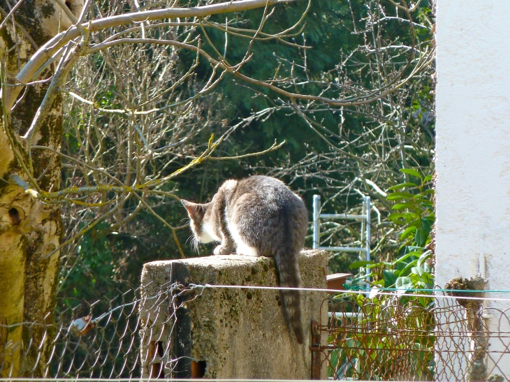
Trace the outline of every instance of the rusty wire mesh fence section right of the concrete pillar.
<instances>
[{"instance_id":1,"label":"rusty wire mesh fence section right of the concrete pillar","mask_svg":"<svg viewBox=\"0 0 510 382\"><path fill-rule=\"evenodd\" d=\"M313 351L332 379L508 381L509 311L449 297L324 300L328 343Z\"/></svg>"}]
</instances>

